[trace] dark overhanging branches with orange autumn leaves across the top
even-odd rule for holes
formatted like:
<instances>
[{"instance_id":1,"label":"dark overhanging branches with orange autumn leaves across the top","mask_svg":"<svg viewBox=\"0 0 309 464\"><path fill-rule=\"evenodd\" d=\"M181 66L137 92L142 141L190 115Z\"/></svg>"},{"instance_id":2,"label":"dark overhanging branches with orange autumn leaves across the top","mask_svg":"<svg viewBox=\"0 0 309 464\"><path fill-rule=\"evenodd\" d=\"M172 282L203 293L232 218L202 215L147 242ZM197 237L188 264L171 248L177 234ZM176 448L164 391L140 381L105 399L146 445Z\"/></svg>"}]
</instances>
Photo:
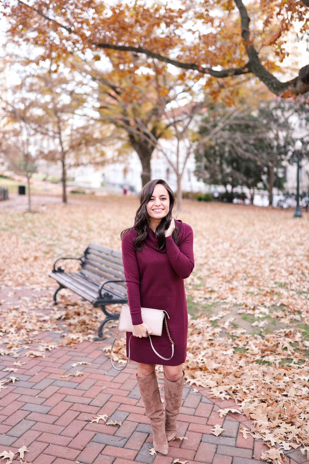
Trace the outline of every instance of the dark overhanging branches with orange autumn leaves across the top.
<instances>
[{"instance_id":1,"label":"dark overhanging branches with orange autumn leaves across the top","mask_svg":"<svg viewBox=\"0 0 309 464\"><path fill-rule=\"evenodd\" d=\"M38 45L38 59L104 50L132 72L142 53L150 58L149 67L154 61L174 64L191 78L204 74L208 84L252 73L276 95L309 90L309 64L287 82L274 75L288 54L286 34L296 22L301 34L308 31L309 0L259 0L248 6L242 0L183 0L179 8L158 2L109 6L101 0L4 0L2 5L9 39Z\"/></svg>"}]
</instances>

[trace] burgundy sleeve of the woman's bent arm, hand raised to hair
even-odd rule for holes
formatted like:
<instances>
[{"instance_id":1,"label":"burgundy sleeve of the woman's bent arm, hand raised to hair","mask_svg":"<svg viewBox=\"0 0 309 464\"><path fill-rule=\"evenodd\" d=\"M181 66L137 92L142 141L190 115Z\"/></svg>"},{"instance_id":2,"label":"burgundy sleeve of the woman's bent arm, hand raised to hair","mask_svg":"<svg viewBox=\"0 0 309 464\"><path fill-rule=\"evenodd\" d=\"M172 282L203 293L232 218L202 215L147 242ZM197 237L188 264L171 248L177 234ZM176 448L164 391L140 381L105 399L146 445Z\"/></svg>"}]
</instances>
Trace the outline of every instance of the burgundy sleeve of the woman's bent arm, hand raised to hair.
<instances>
[{"instance_id":1,"label":"burgundy sleeve of the woman's bent arm, hand raised to hair","mask_svg":"<svg viewBox=\"0 0 309 464\"><path fill-rule=\"evenodd\" d=\"M185 225L183 241L179 248L171 236L165 238L165 246L174 271L182 279L189 277L194 268L192 228L188 224Z\"/></svg>"}]
</instances>

